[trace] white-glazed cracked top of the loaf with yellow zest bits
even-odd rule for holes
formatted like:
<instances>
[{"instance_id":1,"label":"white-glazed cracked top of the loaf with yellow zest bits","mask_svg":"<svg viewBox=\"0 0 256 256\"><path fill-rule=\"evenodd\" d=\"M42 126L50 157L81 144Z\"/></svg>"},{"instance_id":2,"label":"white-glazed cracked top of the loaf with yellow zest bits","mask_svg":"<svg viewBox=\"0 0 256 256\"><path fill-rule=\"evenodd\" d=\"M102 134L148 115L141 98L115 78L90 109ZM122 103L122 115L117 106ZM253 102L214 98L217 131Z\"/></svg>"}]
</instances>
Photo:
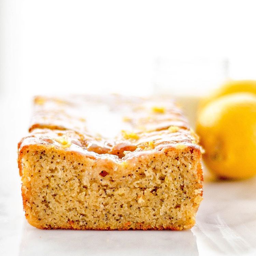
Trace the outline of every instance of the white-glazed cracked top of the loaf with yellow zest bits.
<instances>
[{"instance_id":1,"label":"white-glazed cracked top of the loaf with yellow zest bits","mask_svg":"<svg viewBox=\"0 0 256 256\"><path fill-rule=\"evenodd\" d=\"M45 144L115 161L163 148L199 149L181 110L160 97L37 96L29 132L19 149Z\"/></svg>"}]
</instances>

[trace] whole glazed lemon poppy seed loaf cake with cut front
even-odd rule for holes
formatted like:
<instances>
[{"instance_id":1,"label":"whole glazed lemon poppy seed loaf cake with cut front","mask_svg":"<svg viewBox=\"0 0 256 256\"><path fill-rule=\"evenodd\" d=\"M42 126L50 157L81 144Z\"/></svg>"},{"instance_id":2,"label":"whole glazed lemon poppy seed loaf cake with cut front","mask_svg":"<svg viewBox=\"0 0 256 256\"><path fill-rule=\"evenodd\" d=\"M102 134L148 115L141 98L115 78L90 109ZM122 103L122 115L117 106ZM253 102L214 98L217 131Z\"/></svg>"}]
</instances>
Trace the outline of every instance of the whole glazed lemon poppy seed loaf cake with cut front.
<instances>
[{"instance_id":1,"label":"whole glazed lemon poppy seed loaf cake with cut front","mask_svg":"<svg viewBox=\"0 0 256 256\"><path fill-rule=\"evenodd\" d=\"M191 228L202 200L197 143L170 99L35 97L18 143L27 221L41 229Z\"/></svg>"}]
</instances>

